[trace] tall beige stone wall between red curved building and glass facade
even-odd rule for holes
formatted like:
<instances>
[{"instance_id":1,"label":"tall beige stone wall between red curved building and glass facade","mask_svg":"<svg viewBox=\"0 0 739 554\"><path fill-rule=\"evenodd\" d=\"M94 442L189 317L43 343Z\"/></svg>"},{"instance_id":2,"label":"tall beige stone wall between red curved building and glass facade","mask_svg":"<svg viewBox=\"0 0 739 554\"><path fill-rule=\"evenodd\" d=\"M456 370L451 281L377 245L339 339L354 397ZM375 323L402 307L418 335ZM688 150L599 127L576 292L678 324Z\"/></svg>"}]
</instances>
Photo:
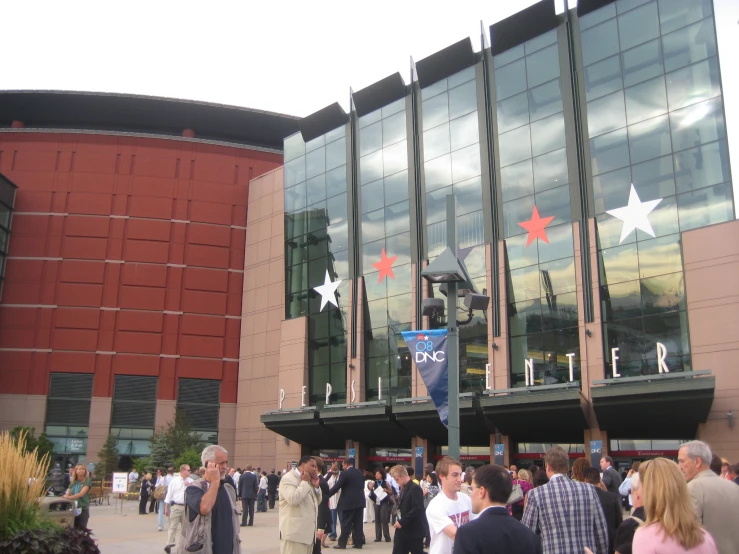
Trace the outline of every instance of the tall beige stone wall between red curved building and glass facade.
<instances>
[{"instance_id":1,"label":"tall beige stone wall between red curved building and glass facade","mask_svg":"<svg viewBox=\"0 0 739 554\"><path fill-rule=\"evenodd\" d=\"M284 439L267 430L259 419L262 413L277 409L282 375L280 353L285 317L283 198L282 168L249 184L239 390L233 416L234 448L229 449L234 466L243 467L249 463L262 468L282 467L284 462L278 460L278 454L285 459L294 459L299 454L297 445L285 445ZM288 324L286 337L295 338L292 326L299 326L300 322L305 327L304 319L284 322ZM294 345L288 339L285 346L285 354L289 357L293 354ZM303 363L303 372L306 367ZM300 386L297 389L300 390ZM291 394L294 395L292 389ZM299 406L300 399L297 400ZM290 401L294 403L294 396ZM286 399L284 406L289 405ZM222 420L223 416L222 406ZM224 431L228 434L226 427Z\"/></svg>"}]
</instances>

